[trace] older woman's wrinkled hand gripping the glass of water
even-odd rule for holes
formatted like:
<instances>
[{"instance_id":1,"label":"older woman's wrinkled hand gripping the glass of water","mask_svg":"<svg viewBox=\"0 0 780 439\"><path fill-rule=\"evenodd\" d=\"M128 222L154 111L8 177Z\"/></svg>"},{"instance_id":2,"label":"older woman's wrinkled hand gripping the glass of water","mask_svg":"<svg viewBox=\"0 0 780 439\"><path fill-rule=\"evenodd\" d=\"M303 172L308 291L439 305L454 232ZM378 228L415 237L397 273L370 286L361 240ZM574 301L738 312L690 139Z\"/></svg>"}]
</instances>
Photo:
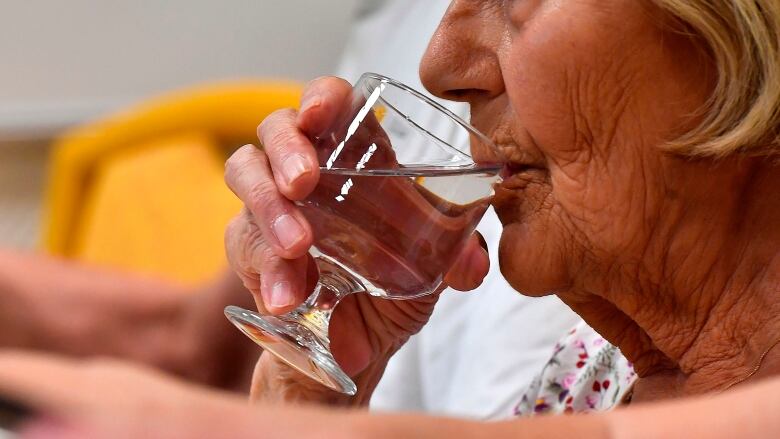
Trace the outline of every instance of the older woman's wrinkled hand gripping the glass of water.
<instances>
[{"instance_id":1,"label":"older woman's wrinkled hand gripping the glass of water","mask_svg":"<svg viewBox=\"0 0 780 439\"><path fill-rule=\"evenodd\" d=\"M313 286L316 269L307 253L312 228L293 201L306 198L319 179L317 154L309 139L339 114L351 88L338 78L313 81L299 112L277 111L259 126L262 149L244 146L227 162L225 180L245 205L226 232L228 259L260 312L288 312ZM445 280L459 290L473 289L488 268L487 252L474 236ZM387 359L427 322L436 300L435 295L392 301L356 294L341 302L331 320L331 350L361 390L353 403L367 401ZM333 397L269 355L258 363L253 393L258 398Z\"/></svg>"}]
</instances>

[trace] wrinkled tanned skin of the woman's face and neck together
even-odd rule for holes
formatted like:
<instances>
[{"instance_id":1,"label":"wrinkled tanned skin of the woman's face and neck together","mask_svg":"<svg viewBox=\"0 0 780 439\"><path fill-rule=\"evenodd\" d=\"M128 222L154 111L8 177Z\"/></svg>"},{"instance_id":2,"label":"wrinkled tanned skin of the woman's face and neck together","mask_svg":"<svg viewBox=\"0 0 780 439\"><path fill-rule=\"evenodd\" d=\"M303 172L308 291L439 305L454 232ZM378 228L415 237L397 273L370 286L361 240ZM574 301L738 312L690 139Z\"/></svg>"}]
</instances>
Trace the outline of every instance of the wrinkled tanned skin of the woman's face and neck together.
<instances>
[{"instance_id":1,"label":"wrinkled tanned skin of the woman's face and neck together","mask_svg":"<svg viewBox=\"0 0 780 439\"><path fill-rule=\"evenodd\" d=\"M769 160L663 151L714 84L675 26L636 0L455 1L420 72L436 95L469 102L510 158L494 204L511 285L558 294L640 376L696 393L744 376L780 336L766 200L780 203ZM742 322L738 303L755 306Z\"/></svg>"}]
</instances>

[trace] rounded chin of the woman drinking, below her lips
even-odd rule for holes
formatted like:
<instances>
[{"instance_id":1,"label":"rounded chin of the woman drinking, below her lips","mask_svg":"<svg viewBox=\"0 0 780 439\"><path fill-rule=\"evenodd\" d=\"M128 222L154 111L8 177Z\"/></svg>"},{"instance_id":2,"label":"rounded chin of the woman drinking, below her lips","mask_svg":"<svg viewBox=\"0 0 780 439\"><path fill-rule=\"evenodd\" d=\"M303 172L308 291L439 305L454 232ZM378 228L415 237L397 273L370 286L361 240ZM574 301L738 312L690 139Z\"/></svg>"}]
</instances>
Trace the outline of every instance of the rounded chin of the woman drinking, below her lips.
<instances>
[{"instance_id":1,"label":"rounded chin of the woman drinking, below her lips","mask_svg":"<svg viewBox=\"0 0 780 439\"><path fill-rule=\"evenodd\" d=\"M498 262L512 288L533 297L566 289L569 279L565 257L554 238L525 222L504 226Z\"/></svg>"}]
</instances>

